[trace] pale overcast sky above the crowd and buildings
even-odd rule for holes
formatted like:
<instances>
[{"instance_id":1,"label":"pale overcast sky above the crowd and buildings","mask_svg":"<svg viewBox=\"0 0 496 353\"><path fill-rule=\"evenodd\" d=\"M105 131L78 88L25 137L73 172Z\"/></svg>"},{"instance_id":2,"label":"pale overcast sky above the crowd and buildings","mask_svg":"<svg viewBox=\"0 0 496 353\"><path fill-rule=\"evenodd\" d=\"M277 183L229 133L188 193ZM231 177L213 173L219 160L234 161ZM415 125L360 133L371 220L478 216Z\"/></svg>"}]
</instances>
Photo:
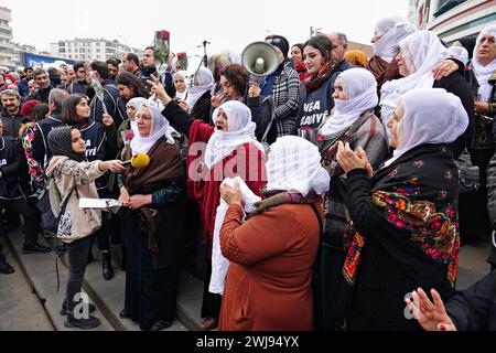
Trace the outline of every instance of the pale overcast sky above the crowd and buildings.
<instances>
[{"instance_id":1,"label":"pale overcast sky above the crowd and buildings","mask_svg":"<svg viewBox=\"0 0 496 353\"><path fill-rule=\"evenodd\" d=\"M132 6L134 3L134 6ZM51 42L74 38L118 40L133 47L153 43L153 32L171 32L171 50L203 56L224 50L241 53L268 34L304 42L310 28L342 31L354 42L369 43L375 23L387 15L407 17L408 0L175 0L106 1L0 0L12 10L14 41L50 50Z\"/></svg>"}]
</instances>

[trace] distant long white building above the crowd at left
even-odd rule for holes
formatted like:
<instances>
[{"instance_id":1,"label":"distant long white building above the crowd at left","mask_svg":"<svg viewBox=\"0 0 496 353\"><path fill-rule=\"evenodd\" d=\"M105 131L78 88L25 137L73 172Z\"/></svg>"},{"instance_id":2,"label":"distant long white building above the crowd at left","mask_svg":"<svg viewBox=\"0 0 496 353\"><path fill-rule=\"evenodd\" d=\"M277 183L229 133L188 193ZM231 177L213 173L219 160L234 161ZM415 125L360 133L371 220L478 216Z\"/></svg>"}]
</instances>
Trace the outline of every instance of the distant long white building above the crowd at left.
<instances>
[{"instance_id":1,"label":"distant long white building above the crowd at left","mask_svg":"<svg viewBox=\"0 0 496 353\"><path fill-rule=\"evenodd\" d=\"M133 52L137 55L143 53L142 50L131 47L105 39L75 39L69 41L58 41L50 44L53 56L64 57L75 61L106 61L110 57L121 57L126 52Z\"/></svg>"}]
</instances>

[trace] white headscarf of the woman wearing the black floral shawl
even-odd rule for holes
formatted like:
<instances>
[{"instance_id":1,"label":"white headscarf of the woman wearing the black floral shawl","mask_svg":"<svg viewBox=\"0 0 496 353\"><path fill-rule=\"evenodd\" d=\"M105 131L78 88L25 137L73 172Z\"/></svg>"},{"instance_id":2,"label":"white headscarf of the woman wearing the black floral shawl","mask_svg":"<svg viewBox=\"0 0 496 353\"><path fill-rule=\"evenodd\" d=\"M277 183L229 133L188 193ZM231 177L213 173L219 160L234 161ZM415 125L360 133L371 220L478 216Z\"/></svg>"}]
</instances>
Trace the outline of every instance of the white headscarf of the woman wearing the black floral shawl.
<instances>
[{"instance_id":1,"label":"white headscarf of the woman wearing the black floral shawl","mask_svg":"<svg viewBox=\"0 0 496 353\"><path fill-rule=\"evenodd\" d=\"M386 167L418 146L452 143L468 127L462 101L445 89L414 89L401 100L405 115L397 127L399 146Z\"/></svg>"}]
</instances>

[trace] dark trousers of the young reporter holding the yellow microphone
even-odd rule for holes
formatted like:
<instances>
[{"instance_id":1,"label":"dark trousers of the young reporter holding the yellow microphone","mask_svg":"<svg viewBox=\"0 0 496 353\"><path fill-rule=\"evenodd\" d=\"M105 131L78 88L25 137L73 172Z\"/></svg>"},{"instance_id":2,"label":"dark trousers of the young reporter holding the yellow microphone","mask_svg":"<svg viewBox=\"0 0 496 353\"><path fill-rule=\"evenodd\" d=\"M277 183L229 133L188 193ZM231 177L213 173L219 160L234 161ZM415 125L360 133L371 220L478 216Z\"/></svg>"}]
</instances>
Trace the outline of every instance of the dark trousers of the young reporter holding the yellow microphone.
<instances>
[{"instance_id":1,"label":"dark trousers of the young reporter holding the yellow microphone","mask_svg":"<svg viewBox=\"0 0 496 353\"><path fill-rule=\"evenodd\" d=\"M85 277L86 266L88 265L88 254L93 243L91 238L93 236L87 236L67 244L69 276L65 296L67 299L67 312L69 313L74 311L74 307L80 301L74 301L74 296L80 293L83 287L83 278Z\"/></svg>"}]
</instances>

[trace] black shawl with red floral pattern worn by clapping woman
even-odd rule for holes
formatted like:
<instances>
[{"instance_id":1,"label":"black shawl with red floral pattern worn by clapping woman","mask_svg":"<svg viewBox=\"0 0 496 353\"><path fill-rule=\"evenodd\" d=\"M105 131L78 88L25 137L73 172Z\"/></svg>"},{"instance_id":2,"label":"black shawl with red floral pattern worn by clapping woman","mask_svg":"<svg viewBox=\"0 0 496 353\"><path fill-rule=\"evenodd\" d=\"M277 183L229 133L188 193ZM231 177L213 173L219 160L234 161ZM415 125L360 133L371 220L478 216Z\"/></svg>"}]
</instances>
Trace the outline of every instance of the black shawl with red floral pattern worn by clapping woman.
<instances>
[{"instance_id":1,"label":"black shawl with red floral pattern worn by clapping woman","mask_svg":"<svg viewBox=\"0 0 496 353\"><path fill-rule=\"evenodd\" d=\"M371 202L391 236L376 236L386 252L419 282L456 279L460 236L457 170L445 146L424 145L381 169L373 179ZM390 227L389 227L390 228ZM354 232L344 266L353 286L367 234Z\"/></svg>"}]
</instances>

